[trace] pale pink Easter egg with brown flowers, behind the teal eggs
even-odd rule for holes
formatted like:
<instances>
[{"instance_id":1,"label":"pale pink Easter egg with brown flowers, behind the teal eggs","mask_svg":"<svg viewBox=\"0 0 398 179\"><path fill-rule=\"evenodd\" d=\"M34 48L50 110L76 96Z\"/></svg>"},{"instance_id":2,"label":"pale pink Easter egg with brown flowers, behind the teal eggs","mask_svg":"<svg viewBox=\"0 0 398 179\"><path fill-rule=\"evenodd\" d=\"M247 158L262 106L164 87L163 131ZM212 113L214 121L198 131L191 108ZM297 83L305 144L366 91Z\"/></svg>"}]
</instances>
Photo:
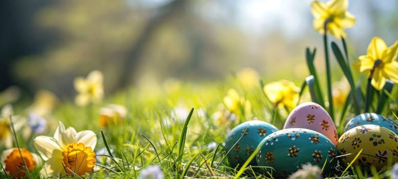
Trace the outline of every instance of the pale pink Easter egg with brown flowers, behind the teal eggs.
<instances>
[{"instance_id":1,"label":"pale pink Easter egg with brown flowers, behind the teal eggs","mask_svg":"<svg viewBox=\"0 0 398 179\"><path fill-rule=\"evenodd\" d=\"M296 106L287 116L283 128L315 130L329 138L334 145L337 144L338 135L333 120L321 105L314 102L305 102Z\"/></svg>"}]
</instances>

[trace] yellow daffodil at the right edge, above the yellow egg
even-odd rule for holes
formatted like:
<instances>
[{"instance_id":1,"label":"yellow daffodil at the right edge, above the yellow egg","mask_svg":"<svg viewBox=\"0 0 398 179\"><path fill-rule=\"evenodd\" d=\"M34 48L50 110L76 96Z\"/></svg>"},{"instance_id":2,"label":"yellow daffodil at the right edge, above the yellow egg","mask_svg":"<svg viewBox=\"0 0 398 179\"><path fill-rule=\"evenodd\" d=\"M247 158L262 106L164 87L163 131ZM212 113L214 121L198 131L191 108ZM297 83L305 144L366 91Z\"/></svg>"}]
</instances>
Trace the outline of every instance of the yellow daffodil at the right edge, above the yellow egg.
<instances>
[{"instance_id":1,"label":"yellow daffodil at the right edge, above the yellow egg","mask_svg":"<svg viewBox=\"0 0 398 179\"><path fill-rule=\"evenodd\" d=\"M372 78L374 88L381 90L389 79L398 83L398 41L387 47L383 39L374 37L368 46L366 55L353 62L353 67Z\"/></svg>"}]
</instances>

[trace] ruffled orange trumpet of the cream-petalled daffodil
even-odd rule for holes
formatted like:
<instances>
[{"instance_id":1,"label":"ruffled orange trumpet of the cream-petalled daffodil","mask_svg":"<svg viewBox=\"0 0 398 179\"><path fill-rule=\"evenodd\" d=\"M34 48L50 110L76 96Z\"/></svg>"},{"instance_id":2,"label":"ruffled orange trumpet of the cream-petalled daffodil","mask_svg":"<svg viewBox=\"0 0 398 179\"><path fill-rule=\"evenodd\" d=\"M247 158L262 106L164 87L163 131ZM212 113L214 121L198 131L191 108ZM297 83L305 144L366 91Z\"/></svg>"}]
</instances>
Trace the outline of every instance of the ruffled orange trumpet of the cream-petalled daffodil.
<instances>
[{"instance_id":1,"label":"ruffled orange trumpet of the cream-petalled daffodil","mask_svg":"<svg viewBox=\"0 0 398 179\"><path fill-rule=\"evenodd\" d=\"M95 153L91 147L85 147L83 143L74 142L62 152L63 165L68 175L82 176L91 173L95 165Z\"/></svg>"}]
</instances>

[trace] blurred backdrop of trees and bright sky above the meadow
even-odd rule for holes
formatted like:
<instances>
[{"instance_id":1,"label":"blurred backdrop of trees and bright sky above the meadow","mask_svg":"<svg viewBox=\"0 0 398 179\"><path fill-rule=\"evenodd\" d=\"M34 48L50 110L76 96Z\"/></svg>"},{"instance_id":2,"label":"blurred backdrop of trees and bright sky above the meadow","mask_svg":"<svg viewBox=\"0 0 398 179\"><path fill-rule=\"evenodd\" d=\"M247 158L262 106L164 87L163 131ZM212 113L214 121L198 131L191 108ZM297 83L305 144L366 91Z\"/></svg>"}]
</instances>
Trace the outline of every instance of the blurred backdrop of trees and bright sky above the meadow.
<instances>
[{"instance_id":1,"label":"blurred backdrop of trees and bright sky above the meadow","mask_svg":"<svg viewBox=\"0 0 398 179\"><path fill-rule=\"evenodd\" d=\"M266 81L302 81L306 47L321 47L306 1L5 0L0 3L0 91L75 94L73 79L104 74L107 94L159 83L223 80L245 67ZM351 60L373 36L396 39L398 3L350 1ZM318 54L323 53L322 48ZM322 55L317 63L323 63ZM334 68L338 69L336 63ZM323 65L320 65L322 68ZM340 80L340 78L336 78Z\"/></svg>"}]
</instances>

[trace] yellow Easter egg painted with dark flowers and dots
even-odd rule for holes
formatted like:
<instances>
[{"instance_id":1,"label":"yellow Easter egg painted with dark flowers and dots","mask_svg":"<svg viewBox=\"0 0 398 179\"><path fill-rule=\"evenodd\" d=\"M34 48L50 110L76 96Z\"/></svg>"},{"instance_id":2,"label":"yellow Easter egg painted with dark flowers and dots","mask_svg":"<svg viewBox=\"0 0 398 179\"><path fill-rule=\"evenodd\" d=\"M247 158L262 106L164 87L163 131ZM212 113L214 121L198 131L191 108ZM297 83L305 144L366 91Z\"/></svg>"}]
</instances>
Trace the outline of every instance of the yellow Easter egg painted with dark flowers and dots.
<instances>
[{"instance_id":1,"label":"yellow Easter egg painted with dark flowers and dots","mask_svg":"<svg viewBox=\"0 0 398 179\"><path fill-rule=\"evenodd\" d=\"M379 125L360 125L343 133L337 150L347 165L362 150L352 165L360 165L365 169L374 165L380 170L387 165L388 158L391 158L393 164L398 162L398 136Z\"/></svg>"}]
</instances>

